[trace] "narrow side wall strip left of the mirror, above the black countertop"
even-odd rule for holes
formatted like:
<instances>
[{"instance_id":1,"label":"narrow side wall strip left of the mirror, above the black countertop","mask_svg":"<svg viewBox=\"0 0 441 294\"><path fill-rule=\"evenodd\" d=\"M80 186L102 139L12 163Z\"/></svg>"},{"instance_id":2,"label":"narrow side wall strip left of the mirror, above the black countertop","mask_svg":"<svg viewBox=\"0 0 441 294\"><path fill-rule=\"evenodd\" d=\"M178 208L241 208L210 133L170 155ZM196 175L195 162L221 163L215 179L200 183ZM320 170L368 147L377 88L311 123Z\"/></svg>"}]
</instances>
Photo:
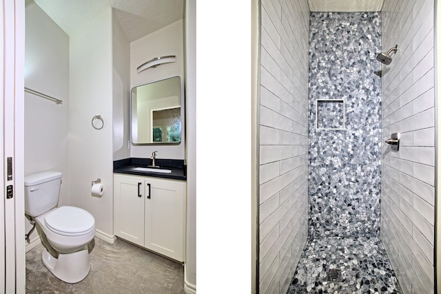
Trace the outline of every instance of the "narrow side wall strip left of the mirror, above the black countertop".
<instances>
[{"instance_id":1,"label":"narrow side wall strip left of the mirror, above the black countertop","mask_svg":"<svg viewBox=\"0 0 441 294\"><path fill-rule=\"evenodd\" d=\"M112 13L113 160L130 158L130 43Z\"/></svg>"}]
</instances>

